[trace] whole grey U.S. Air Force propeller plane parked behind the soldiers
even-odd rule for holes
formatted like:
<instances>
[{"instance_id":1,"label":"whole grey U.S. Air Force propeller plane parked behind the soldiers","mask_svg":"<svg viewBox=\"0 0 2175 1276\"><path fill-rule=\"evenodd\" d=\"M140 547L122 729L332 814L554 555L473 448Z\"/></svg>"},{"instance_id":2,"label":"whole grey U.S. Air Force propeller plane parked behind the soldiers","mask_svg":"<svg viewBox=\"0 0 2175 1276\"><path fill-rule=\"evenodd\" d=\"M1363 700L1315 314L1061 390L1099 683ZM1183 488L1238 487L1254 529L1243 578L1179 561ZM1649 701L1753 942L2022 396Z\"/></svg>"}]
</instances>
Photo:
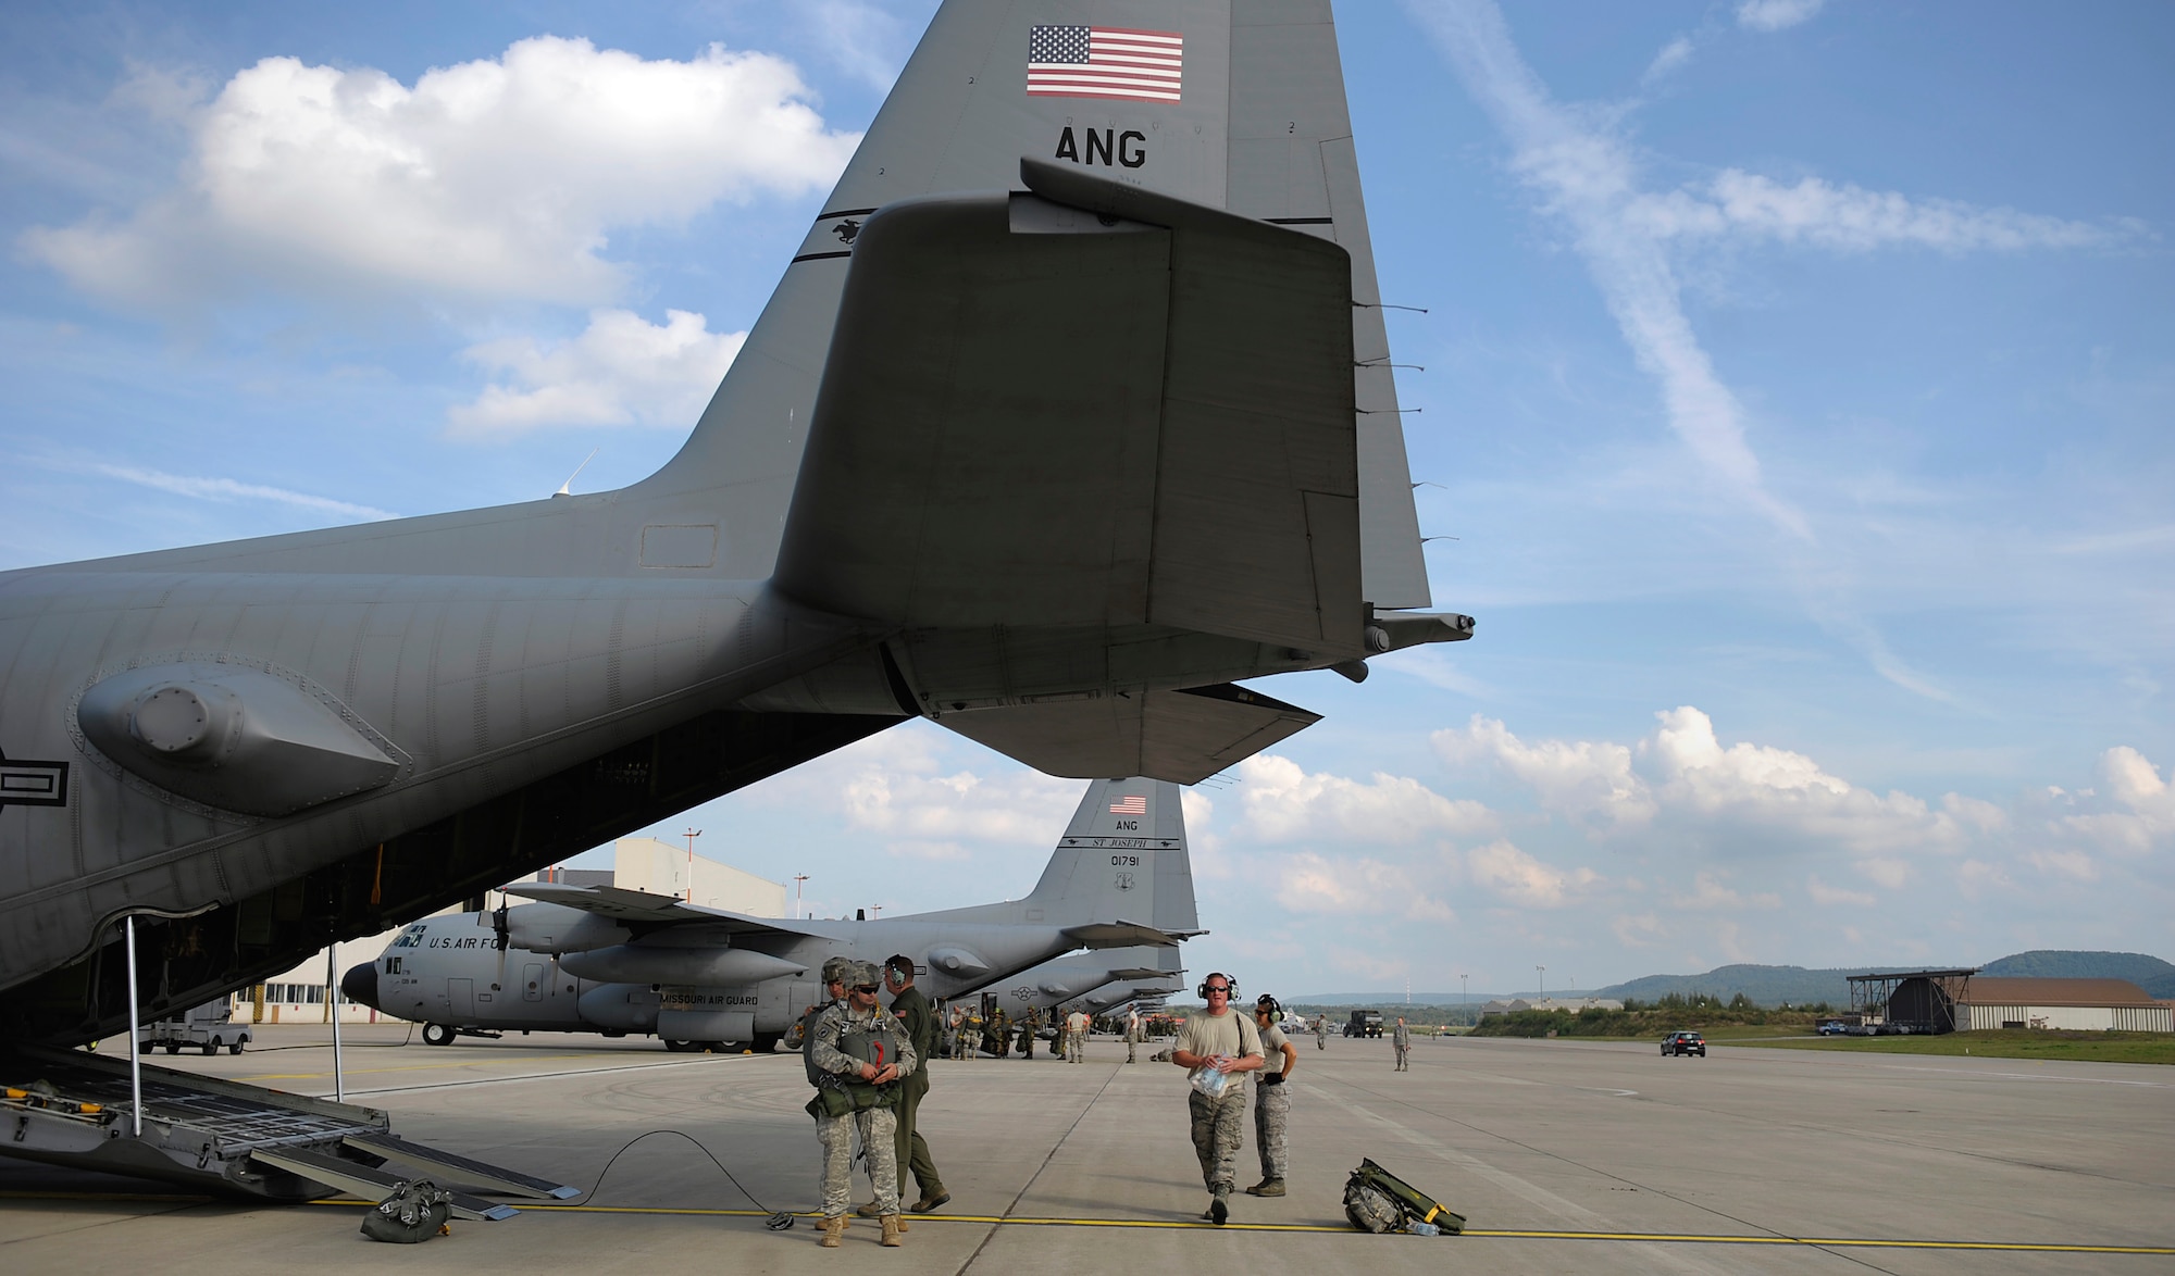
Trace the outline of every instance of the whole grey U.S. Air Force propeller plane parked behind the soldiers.
<instances>
[{"instance_id":1,"label":"whole grey U.S. Air Force propeller plane parked behind the soldiers","mask_svg":"<svg viewBox=\"0 0 2175 1276\"><path fill-rule=\"evenodd\" d=\"M1074 948L1092 991L1135 974L1142 950L1196 928L1179 787L1127 778L1088 785L1042 880L1020 900L907 917L781 920L613 887L524 885L535 902L424 917L339 980L424 1041L457 1033L655 1033L668 1046L735 1041L770 1050L822 1000L826 956L913 959L916 987L957 998ZM1122 954L1122 956L1120 956ZM1142 976L1155 972L1142 969ZM1040 987L1040 983L1035 987ZM1068 989L1070 991L1070 989ZM1020 1006L1009 1006L1018 1011Z\"/></svg>"}]
</instances>

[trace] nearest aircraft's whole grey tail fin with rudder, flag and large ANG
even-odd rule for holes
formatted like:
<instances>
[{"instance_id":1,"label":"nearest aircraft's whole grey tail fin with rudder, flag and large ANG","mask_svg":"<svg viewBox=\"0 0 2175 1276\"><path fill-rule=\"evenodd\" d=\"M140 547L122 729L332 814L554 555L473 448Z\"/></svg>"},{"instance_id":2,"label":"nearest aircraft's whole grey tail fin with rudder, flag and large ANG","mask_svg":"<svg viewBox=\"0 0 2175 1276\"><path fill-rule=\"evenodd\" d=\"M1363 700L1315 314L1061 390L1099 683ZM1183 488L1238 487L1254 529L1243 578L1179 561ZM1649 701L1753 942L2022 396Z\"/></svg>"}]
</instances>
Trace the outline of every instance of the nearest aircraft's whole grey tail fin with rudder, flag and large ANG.
<instances>
[{"instance_id":1,"label":"nearest aircraft's whole grey tail fin with rudder, flag and large ANG","mask_svg":"<svg viewBox=\"0 0 2175 1276\"><path fill-rule=\"evenodd\" d=\"M868 215L909 196L1016 191L1022 157L1351 252L1362 596L1425 606L1329 0L946 0L687 446L631 491L657 504L652 520L718 522L716 570L770 576Z\"/></svg>"}]
</instances>

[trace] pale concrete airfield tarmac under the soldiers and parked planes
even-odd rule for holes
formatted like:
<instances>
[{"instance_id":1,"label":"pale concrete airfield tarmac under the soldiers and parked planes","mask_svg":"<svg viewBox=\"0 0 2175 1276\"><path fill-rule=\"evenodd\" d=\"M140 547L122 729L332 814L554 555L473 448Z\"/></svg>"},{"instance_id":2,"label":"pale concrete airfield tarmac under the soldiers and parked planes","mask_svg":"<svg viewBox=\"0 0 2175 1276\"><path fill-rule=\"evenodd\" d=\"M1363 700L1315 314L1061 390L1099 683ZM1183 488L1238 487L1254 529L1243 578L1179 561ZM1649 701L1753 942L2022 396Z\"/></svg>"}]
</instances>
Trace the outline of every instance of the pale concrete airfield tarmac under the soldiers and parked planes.
<instances>
[{"instance_id":1,"label":"pale concrete airfield tarmac under the soldiers and parked planes","mask_svg":"<svg viewBox=\"0 0 2175 1276\"><path fill-rule=\"evenodd\" d=\"M422 1143L589 1191L389 1250L361 1206L250 1206L0 1159L0 1269L807 1272L1077 1276L1216 1267L1255 1276L1446 1265L1518 1272L2168 1272L2175 1069L1823 1054L1653 1041L1301 1041L1292 1193L1207 1204L1183 1074L1037 1054L937 1061L922 1104L953 1202L903 1250L857 1219L846 1248L768 1233L757 1206L816 1204L798 1056L668 1054L535 1035L431 1048L348 1028L348 1100ZM265 1028L239 1056L159 1065L331 1093L326 1028ZM285 1046L285 1050L274 1050ZM111 1048L111 1046L109 1046ZM696 1148L679 1130L700 1141ZM624 1148L624 1152L622 1152ZM707 1154L705 1154L707 1148ZM613 1161L613 1154L618 1159ZM1372 1156L1468 1217L1464 1237L1372 1237L1342 1217ZM598 1174L611 1161L609 1174ZM1240 1187L1259 1178L1248 1124ZM866 1200L857 1178L855 1200ZM2121 1252L2121 1250L2132 1252ZM2155 1252L2153 1252L2155 1250Z\"/></svg>"}]
</instances>

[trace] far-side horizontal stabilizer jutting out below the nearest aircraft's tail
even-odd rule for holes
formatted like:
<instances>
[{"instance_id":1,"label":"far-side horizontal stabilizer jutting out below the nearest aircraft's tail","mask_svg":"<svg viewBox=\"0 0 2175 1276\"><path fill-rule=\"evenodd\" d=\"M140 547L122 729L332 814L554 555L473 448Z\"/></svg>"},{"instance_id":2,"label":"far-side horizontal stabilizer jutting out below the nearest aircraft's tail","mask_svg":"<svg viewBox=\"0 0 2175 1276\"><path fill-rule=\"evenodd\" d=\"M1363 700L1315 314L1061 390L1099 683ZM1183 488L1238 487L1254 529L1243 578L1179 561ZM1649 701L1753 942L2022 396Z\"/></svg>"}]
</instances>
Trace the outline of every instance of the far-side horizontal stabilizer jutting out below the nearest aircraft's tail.
<instances>
[{"instance_id":1,"label":"far-side horizontal stabilizer jutting out below the nearest aircraft's tail","mask_svg":"<svg viewBox=\"0 0 2175 1276\"><path fill-rule=\"evenodd\" d=\"M1138 691L1098 700L1057 700L946 713L937 720L1051 776L1155 776L1201 783L1320 722L1285 704L1222 683L1183 691Z\"/></svg>"}]
</instances>

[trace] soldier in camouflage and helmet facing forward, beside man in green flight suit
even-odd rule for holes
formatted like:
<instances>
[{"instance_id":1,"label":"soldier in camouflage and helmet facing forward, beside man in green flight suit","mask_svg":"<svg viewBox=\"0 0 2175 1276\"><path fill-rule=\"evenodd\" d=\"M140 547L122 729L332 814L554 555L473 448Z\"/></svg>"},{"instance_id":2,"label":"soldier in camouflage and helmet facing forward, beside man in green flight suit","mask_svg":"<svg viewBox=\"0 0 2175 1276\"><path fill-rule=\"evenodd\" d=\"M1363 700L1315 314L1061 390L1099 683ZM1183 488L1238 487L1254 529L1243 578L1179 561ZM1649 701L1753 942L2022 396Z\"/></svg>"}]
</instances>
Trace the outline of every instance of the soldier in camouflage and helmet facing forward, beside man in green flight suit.
<instances>
[{"instance_id":1,"label":"soldier in camouflage and helmet facing forward, beside man in green flight suit","mask_svg":"<svg viewBox=\"0 0 2175 1276\"><path fill-rule=\"evenodd\" d=\"M883 1224L883 1243L898 1246L898 1124L892 1119L892 1104L898 1100L894 1083L911 1076L920 1063L905 1028L877 1002L877 967L866 961L853 965L846 978L846 1000L816 1015L809 1039L809 1067L822 1076L822 1091L809 1100L809 1115L816 1117L816 1141L822 1143L822 1243L835 1248L846 1230L846 1206L853 1204L853 1135L861 1135L861 1152L868 1161L868 1183L877 1191L877 1211ZM896 1059L877 1063L846 1054L840 1043L848 1033L887 1033ZM844 1104L826 1104L826 1098L844 1096ZM837 1111L844 1109L844 1111Z\"/></svg>"}]
</instances>

